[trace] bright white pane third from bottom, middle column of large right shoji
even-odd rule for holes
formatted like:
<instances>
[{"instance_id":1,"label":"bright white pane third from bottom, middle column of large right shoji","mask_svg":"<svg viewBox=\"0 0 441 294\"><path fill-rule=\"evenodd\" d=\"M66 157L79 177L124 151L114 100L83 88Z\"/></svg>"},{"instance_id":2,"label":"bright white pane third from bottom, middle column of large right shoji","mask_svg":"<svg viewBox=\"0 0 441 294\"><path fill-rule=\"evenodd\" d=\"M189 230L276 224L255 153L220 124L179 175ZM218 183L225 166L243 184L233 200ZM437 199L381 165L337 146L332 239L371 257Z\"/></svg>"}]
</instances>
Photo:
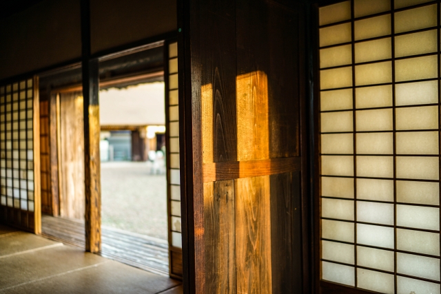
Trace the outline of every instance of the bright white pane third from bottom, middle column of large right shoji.
<instances>
[{"instance_id":1,"label":"bright white pane third from bottom, middle column of large right shoji","mask_svg":"<svg viewBox=\"0 0 441 294\"><path fill-rule=\"evenodd\" d=\"M357 243L393 249L393 228L357 224Z\"/></svg>"}]
</instances>

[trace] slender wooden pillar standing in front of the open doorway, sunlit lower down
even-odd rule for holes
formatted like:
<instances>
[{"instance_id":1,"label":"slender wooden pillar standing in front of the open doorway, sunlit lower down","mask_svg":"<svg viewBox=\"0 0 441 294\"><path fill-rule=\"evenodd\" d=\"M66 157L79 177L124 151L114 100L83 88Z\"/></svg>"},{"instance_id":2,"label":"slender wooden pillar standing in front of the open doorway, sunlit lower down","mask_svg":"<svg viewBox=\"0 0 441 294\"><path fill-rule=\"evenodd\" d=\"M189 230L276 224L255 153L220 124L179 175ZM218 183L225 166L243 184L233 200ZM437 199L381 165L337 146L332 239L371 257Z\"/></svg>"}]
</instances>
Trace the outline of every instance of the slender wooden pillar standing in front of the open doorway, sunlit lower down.
<instances>
[{"instance_id":1,"label":"slender wooden pillar standing in front of the open doorway, sunlit lower down","mask_svg":"<svg viewBox=\"0 0 441 294\"><path fill-rule=\"evenodd\" d=\"M90 59L90 1L81 0L84 117L85 250L101 250L98 60Z\"/></svg>"}]
</instances>

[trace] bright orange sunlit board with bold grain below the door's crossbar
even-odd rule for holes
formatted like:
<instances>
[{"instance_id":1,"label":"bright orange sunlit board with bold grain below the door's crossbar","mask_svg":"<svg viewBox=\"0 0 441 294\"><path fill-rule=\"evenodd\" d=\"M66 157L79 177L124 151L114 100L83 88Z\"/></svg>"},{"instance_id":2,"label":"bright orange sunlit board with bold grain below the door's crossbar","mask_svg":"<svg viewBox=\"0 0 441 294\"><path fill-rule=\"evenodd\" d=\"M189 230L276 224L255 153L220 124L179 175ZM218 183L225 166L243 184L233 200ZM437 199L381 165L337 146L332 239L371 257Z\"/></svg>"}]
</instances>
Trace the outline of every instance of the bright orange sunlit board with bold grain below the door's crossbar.
<instances>
[{"instance_id":1,"label":"bright orange sunlit board with bold grain below the door's crossbar","mask_svg":"<svg viewBox=\"0 0 441 294\"><path fill-rule=\"evenodd\" d=\"M234 180L237 293L272 293L269 176Z\"/></svg>"}]
</instances>

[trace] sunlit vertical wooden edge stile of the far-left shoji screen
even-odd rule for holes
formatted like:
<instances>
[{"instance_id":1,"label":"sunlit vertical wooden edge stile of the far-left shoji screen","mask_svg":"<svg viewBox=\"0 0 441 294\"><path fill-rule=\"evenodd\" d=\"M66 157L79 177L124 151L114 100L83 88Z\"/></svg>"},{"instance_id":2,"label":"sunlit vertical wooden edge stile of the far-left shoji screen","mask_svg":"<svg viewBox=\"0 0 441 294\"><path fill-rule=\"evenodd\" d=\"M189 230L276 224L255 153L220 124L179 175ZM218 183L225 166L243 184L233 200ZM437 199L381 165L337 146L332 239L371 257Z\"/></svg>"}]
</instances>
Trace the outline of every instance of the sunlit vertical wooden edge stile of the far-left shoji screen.
<instances>
[{"instance_id":1,"label":"sunlit vertical wooden edge stile of the far-left shoji screen","mask_svg":"<svg viewBox=\"0 0 441 294\"><path fill-rule=\"evenodd\" d=\"M41 233L41 169L40 169L40 98L39 77L34 76L34 213L32 221L28 220L29 227L34 233Z\"/></svg>"}]
</instances>

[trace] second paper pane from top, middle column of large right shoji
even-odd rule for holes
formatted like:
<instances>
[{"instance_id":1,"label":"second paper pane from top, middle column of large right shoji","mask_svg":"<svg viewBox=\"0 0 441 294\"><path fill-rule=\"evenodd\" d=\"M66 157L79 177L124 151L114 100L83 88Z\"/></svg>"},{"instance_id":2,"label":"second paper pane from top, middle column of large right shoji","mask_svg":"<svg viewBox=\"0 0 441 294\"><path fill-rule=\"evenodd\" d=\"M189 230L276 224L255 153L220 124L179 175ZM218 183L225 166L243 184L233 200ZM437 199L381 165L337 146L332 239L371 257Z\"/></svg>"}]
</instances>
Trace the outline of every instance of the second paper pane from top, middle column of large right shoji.
<instances>
[{"instance_id":1,"label":"second paper pane from top, middle column of large right shoji","mask_svg":"<svg viewBox=\"0 0 441 294\"><path fill-rule=\"evenodd\" d=\"M356 40L385 36L391 34L391 15L371 17L354 23L354 36Z\"/></svg>"}]
</instances>

